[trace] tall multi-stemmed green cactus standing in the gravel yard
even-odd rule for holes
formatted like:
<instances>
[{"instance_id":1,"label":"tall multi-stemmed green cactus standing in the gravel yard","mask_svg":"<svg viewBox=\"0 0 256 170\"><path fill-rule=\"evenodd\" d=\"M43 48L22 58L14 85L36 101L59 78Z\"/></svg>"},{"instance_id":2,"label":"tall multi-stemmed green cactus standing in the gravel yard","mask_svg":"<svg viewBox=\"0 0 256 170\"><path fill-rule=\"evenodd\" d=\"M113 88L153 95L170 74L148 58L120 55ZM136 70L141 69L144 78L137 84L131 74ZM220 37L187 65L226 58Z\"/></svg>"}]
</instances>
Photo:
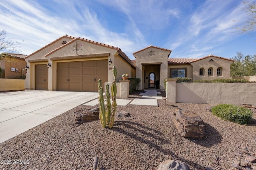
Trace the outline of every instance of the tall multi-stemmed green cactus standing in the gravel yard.
<instances>
[{"instance_id":1,"label":"tall multi-stemmed green cactus standing in the gravel yard","mask_svg":"<svg viewBox=\"0 0 256 170\"><path fill-rule=\"evenodd\" d=\"M107 108L104 106L104 98L103 98L103 88L102 81L98 80L98 91L99 91L99 107L100 107L100 123L102 127L112 128L114 125L114 117L116 113L116 66L113 66L112 73L114 76L114 80L112 81L111 86L111 94L112 94L112 107L110 102L110 93L109 93L109 85L106 85L106 98L107 98Z\"/></svg>"}]
</instances>

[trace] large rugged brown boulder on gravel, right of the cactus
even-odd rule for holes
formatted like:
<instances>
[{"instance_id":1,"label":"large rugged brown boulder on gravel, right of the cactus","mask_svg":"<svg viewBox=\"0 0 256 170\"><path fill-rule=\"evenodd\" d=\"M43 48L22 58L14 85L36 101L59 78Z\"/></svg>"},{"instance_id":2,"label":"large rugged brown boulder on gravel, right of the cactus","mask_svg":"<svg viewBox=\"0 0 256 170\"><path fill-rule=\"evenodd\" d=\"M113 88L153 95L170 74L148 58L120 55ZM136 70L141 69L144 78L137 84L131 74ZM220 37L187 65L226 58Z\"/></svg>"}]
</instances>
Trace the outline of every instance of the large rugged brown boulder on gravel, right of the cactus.
<instances>
[{"instance_id":1,"label":"large rugged brown boulder on gravel, right of the cactus","mask_svg":"<svg viewBox=\"0 0 256 170\"><path fill-rule=\"evenodd\" d=\"M178 108L172 121L182 137L202 139L205 135L204 122L196 113Z\"/></svg>"}]
</instances>

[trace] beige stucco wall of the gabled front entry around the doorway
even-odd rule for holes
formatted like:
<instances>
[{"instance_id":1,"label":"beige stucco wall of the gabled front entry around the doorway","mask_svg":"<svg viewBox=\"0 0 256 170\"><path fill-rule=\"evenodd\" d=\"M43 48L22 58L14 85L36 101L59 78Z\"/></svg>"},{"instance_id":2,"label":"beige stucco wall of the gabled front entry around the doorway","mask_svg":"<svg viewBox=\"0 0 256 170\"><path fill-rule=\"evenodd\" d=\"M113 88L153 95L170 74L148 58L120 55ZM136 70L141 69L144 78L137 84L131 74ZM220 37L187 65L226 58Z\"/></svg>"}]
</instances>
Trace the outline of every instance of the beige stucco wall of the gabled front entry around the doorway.
<instances>
[{"instance_id":1,"label":"beige stucco wall of the gabled front entry around the doorway","mask_svg":"<svg viewBox=\"0 0 256 170\"><path fill-rule=\"evenodd\" d=\"M150 51L155 51L154 55L150 57ZM146 88L144 85L144 65L147 64L160 64L160 89L164 89L164 78L168 76L168 55L170 51L150 47L143 51L134 54L136 58L136 78L140 78L141 82L139 89ZM146 76L148 76L146 74ZM147 81L145 81L147 83Z\"/></svg>"}]
</instances>

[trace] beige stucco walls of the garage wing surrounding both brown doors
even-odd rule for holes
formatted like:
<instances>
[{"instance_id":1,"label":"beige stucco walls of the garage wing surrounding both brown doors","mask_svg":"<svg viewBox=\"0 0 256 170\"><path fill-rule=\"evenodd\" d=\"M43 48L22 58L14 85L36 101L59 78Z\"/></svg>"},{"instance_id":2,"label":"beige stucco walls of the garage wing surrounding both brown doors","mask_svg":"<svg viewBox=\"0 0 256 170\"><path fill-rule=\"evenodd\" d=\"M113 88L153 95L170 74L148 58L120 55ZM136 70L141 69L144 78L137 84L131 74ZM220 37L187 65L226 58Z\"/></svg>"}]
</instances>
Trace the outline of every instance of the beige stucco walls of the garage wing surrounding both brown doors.
<instances>
[{"instance_id":1,"label":"beige stucco walls of the garage wing surrounding both brown doors","mask_svg":"<svg viewBox=\"0 0 256 170\"><path fill-rule=\"evenodd\" d=\"M26 90L34 90L35 89L35 65L36 64L47 64L48 62L51 64L51 66L48 68L48 90L55 91L57 89L57 63L60 62L73 62L73 61L91 61L91 60L110 60L112 61L112 64L108 65L108 82L112 82L113 80L113 74L112 74L112 66L116 65L118 71L118 77L117 80L122 78L122 71L125 71L126 74L130 74L131 76L135 76L135 68L128 64L127 61L122 59L120 55L116 55L117 49L111 49L108 47L103 47L100 45L88 43L82 40L74 41L70 44L67 44L66 46L58 49L54 53L47 55L49 52L51 52L53 49L56 49L60 46L62 41L66 41L66 39L61 39L57 41L56 43L53 43L49 47L46 47L46 49L43 49L43 51L40 51L29 58L28 60L40 60L44 59L46 61L43 62L28 62L28 74L26 78L25 88ZM59 45L59 46L58 46ZM62 45L62 44L61 44ZM76 51L77 47L77 51ZM104 55L102 55L104 54ZM107 54L107 55L106 55ZM89 56L93 55L93 56ZM77 57L76 57L77 56ZM84 58L79 58L81 56L89 56ZM56 57L60 57L56 59ZM74 59L69 59L67 57L74 57ZM54 59L55 58L55 59ZM122 70L122 71L121 71Z\"/></svg>"}]
</instances>

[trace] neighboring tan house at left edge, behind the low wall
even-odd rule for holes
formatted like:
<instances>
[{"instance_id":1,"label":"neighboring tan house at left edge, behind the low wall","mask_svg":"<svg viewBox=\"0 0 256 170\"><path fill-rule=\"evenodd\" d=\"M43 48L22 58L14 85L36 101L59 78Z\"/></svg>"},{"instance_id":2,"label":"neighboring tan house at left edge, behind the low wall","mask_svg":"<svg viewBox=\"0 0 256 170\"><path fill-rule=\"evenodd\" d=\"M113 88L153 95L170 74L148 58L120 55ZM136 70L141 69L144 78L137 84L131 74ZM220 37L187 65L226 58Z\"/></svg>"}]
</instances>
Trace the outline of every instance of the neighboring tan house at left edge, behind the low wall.
<instances>
[{"instance_id":1,"label":"neighboring tan house at left edge, behind the low wall","mask_svg":"<svg viewBox=\"0 0 256 170\"><path fill-rule=\"evenodd\" d=\"M21 78L26 75L26 55L2 53L0 59L0 68L2 73L0 78Z\"/></svg>"}]
</instances>

